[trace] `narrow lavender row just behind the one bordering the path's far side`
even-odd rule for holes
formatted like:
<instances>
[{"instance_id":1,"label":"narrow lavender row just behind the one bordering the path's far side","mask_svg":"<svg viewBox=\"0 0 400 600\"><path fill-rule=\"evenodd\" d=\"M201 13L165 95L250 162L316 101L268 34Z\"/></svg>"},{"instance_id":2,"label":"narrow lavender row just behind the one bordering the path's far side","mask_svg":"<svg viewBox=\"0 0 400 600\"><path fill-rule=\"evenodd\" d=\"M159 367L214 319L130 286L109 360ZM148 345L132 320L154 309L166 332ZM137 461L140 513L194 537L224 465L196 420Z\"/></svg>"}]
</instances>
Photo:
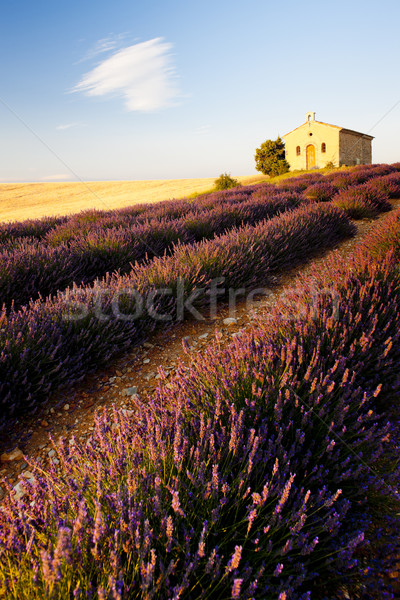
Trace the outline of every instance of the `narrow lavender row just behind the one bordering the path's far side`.
<instances>
[{"instance_id":1,"label":"narrow lavender row just behind the one bordering the path's far side","mask_svg":"<svg viewBox=\"0 0 400 600\"><path fill-rule=\"evenodd\" d=\"M20 240L0 253L0 305L18 308L39 295L46 297L71 286L88 284L96 277L118 270L121 274L132 264L173 251L174 245L192 244L221 235L225 230L255 224L299 205L300 195L272 194L259 190L241 194L227 204L202 211L191 211L169 220L152 219L124 227L104 227L104 220L91 223L81 235L70 223L67 229L53 230L53 240L75 237L53 247L46 241ZM215 202L215 204L217 204ZM94 226L95 225L95 226ZM63 226L64 227L64 226Z\"/></svg>"}]
</instances>

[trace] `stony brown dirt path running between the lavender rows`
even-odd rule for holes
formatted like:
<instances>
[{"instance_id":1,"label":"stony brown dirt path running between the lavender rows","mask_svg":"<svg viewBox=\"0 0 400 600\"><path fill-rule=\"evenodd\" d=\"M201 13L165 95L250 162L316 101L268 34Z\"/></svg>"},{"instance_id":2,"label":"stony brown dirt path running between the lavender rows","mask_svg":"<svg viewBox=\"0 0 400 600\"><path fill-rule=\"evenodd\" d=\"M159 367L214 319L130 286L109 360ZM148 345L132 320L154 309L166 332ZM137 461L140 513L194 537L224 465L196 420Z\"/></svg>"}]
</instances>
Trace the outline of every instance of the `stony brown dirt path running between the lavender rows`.
<instances>
[{"instance_id":1,"label":"stony brown dirt path running between the lavender rows","mask_svg":"<svg viewBox=\"0 0 400 600\"><path fill-rule=\"evenodd\" d=\"M393 208L400 207L400 199L392 203ZM233 336L253 327L257 319L267 315L271 304L293 286L300 273L306 275L312 265L321 262L329 254L351 254L371 228L386 216L384 214L376 220L356 222L357 234L354 238L315 257L305 266L276 277L272 287L269 281L270 292L267 296L259 296L252 301L238 301L234 314L226 304L221 304L215 317L206 317L204 321L193 319L177 324L169 331L159 332L141 347L115 360L112 366L86 377L79 385L54 394L40 415L21 419L13 431L3 436L0 452L9 454L12 450L20 450L27 460L35 458L45 467L50 460L54 460L49 435L55 440L74 435L78 441L84 442L93 431L96 410L111 407L112 404L127 410L134 409L135 393L141 398L151 394L159 383L160 368L166 374L168 385L168 378L173 376L178 361L190 362L190 354L183 352L183 340L193 352L202 352L216 335L220 338L221 346L228 345ZM227 318L230 318L230 322L226 321ZM0 480L6 477L9 483L16 486L21 474L30 476L29 464L21 453L19 459L7 462L4 461L4 454L0 462ZM3 494L0 487L0 498Z\"/></svg>"}]
</instances>

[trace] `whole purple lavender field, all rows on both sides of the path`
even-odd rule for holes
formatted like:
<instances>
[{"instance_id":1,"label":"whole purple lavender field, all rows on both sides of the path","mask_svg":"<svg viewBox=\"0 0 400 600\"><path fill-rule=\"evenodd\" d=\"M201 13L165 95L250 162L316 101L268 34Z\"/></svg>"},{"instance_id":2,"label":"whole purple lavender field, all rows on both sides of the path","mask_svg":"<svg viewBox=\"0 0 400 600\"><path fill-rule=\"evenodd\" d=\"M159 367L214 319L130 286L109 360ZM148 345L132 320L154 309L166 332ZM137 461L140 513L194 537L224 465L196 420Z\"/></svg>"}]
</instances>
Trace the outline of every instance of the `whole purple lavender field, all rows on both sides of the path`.
<instances>
[{"instance_id":1,"label":"whole purple lavender field, all rows on both sides of the path","mask_svg":"<svg viewBox=\"0 0 400 600\"><path fill-rule=\"evenodd\" d=\"M0 430L393 198L400 164L2 225ZM301 279L295 318L278 301L134 415L98 414L86 444L33 464L0 507L0 596L395 597L382 574L399 550L399 245L392 211L350 259Z\"/></svg>"}]
</instances>

